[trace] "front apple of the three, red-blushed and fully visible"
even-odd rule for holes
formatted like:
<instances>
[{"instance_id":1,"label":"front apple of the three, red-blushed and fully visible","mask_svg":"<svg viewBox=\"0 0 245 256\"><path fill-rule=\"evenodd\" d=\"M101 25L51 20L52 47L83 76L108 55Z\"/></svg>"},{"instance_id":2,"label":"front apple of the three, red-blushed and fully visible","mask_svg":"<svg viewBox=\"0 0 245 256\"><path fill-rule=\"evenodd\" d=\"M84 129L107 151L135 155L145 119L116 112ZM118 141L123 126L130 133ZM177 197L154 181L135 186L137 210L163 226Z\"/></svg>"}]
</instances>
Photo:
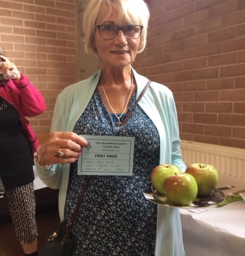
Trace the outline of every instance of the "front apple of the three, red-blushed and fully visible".
<instances>
[{"instance_id":1,"label":"front apple of the three, red-blushed and fully visible","mask_svg":"<svg viewBox=\"0 0 245 256\"><path fill-rule=\"evenodd\" d=\"M166 198L175 205L187 206L198 195L198 184L190 174L171 175L165 179Z\"/></svg>"}]
</instances>

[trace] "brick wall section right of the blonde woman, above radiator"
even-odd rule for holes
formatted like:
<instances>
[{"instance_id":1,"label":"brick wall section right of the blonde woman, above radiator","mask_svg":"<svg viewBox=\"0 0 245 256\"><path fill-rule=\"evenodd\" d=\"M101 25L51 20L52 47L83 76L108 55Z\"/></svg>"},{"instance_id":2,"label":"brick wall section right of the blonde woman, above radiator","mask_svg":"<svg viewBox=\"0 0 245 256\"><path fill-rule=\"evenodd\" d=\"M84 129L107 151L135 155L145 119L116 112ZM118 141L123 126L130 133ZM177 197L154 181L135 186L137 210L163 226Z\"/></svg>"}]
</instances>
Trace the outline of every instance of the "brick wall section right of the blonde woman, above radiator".
<instances>
[{"instance_id":1,"label":"brick wall section right of the blonde woman, above radiator","mask_svg":"<svg viewBox=\"0 0 245 256\"><path fill-rule=\"evenodd\" d=\"M134 68L174 92L182 139L245 148L245 1L150 2Z\"/></svg>"}]
</instances>

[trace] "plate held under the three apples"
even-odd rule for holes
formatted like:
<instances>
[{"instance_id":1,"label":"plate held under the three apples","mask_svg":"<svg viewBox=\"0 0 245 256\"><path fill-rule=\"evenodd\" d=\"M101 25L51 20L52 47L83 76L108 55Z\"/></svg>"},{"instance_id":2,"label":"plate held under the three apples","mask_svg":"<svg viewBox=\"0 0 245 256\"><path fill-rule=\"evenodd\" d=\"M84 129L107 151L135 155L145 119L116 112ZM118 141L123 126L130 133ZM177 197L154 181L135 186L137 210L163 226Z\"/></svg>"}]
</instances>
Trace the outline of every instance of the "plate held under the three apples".
<instances>
[{"instance_id":1,"label":"plate held under the three apples","mask_svg":"<svg viewBox=\"0 0 245 256\"><path fill-rule=\"evenodd\" d=\"M215 188L210 196L196 198L195 201L188 206L175 205L169 202L166 197L160 195L158 192L153 191L152 188L148 188L144 191L144 197L155 204L164 205L167 207L190 209L215 206L225 199L225 194L222 190Z\"/></svg>"}]
</instances>

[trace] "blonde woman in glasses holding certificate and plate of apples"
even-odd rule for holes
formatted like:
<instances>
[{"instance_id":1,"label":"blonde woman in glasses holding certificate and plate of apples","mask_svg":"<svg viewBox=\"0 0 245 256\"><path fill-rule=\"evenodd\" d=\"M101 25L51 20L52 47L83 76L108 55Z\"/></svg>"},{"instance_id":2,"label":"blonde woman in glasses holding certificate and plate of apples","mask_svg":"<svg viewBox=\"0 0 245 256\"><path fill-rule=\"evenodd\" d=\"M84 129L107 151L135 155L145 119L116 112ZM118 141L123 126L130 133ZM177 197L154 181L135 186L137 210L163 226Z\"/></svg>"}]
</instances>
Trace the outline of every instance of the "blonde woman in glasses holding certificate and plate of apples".
<instances>
[{"instance_id":1,"label":"blonde woman in glasses holding certificate and plate of apples","mask_svg":"<svg viewBox=\"0 0 245 256\"><path fill-rule=\"evenodd\" d=\"M134 137L132 176L95 175L72 226L73 255L185 255L178 209L143 196L152 169L185 164L180 153L173 94L151 82L122 125L148 79L132 63L146 43L149 10L142 0L90 0L84 12L85 49L102 69L67 87L57 98L52 134L36 154L38 174L59 188L61 220L69 221L87 180L78 158L89 150L80 135Z\"/></svg>"}]
</instances>

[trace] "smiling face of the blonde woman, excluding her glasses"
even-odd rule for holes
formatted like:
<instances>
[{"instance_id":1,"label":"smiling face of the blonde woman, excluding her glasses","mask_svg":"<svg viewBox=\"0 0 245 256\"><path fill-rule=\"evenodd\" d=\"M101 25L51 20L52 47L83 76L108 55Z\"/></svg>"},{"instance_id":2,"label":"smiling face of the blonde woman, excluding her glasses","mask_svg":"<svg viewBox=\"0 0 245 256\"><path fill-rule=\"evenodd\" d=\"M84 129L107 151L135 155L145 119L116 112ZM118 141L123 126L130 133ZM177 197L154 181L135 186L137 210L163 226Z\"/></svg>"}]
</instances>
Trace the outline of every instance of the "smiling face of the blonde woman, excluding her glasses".
<instances>
[{"instance_id":1,"label":"smiling face of the blonde woman, excluding her glasses","mask_svg":"<svg viewBox=\"0 0 245 256\"><path fill-rule=\"evenodd\" d=\"M112 7L111 15L105 19L107 14L108 10L103 8L97 17L96 26L112 24L122 27L129 25L124 19L118 23L118 12L115 8ZM114 39L104 39L101 37L99 29L95 29L94 47L105 68L125 68L131 65L137 55L139 44L140 37L127 39L122 30L118 31Z\"/></svg>"}]
</instances>

